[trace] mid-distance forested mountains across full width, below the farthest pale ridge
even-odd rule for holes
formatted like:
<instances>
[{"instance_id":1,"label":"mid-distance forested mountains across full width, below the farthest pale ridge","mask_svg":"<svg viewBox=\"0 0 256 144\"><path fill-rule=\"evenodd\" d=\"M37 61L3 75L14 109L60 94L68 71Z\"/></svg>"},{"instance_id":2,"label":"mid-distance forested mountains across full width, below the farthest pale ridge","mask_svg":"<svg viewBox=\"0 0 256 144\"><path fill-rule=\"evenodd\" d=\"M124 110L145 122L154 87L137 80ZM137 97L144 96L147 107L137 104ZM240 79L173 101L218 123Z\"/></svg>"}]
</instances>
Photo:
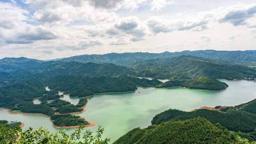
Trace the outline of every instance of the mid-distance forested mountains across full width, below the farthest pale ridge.
<instances>
[{"instance_id":1,"label":"mid-distance forested mountains across full width, below the farthest pale ridge","mask_svg":"<svg viewBox=\"0 0 256 144\"><path fill-rule=\"evenodd\" d=\"M144 53L135 53L134 55L136 54L143 55ZM163 53L163 55L165 54L167 53ZM154 58L152 54L149 54L148 58L150 57ZM3 61L3 63L0 63L0 70L2 71L0 74L3 76L1 78L2 81L26 78L26 76L117 76L120 74L175 80L192 79L198 76L224 79L256 77L256 69L249 68L245 64L230 63L191 55L181 55L166 59L150 59L137 63L134 63L137 61L136 59L130 57L127 60L133 61L133 64L129 65L129 67L107 63L107 60L99 64L91 62L44 62L27 58L4 58L0 60Z\"/></svg>"}]
</instances>

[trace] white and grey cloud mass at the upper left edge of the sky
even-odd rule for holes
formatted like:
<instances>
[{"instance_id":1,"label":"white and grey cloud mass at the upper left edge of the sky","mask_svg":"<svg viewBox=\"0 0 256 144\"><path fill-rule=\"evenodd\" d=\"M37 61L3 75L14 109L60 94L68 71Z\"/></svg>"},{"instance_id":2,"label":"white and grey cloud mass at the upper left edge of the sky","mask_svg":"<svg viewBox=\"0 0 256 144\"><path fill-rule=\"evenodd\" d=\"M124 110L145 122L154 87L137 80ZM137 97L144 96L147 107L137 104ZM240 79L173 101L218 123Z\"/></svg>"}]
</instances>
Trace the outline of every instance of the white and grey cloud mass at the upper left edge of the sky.
<instances>
[{"instance_id":1,"label":"white and grey cloud mass at the upper left edge of the sky","mask_svg":"<svg viewBox=\"0 0 256 144\"><path fill-rule=\"evenodd\" d=\"M0 37L7 44L28 44L36 40L50 40L58 36L43 26L28 25L28 11L15 3L0 2Z\"/></svg>"}]
</instances>

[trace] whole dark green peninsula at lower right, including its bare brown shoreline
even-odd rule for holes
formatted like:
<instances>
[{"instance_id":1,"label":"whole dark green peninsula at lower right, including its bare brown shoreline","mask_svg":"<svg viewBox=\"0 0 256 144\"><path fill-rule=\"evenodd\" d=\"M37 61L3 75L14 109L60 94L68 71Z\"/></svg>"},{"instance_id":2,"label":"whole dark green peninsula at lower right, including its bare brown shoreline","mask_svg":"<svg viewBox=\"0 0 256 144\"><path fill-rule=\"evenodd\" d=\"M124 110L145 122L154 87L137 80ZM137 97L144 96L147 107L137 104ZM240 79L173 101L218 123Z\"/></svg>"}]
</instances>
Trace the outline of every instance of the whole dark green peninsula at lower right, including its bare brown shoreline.
<instances>
[{"instance_id":1,"label":"whole dark green peninsula at lower right, including its bare brown shoreline","mask_svg":"<svg viewBox=\"0 0 256 144\"><path fill-rule=\"evenodd\" d=\"M216 106L215 108L202 107L192 112L177 109L169 109L157 114L151 121L152 125L158 125L167 121L180 121L196 117L204 117L213 124L220 124L229 131L237 132L239 135L256 141L256 99L247 103L234 106ZM204 109L207 108L207 109Z\"/></svg>"}]
</instances>

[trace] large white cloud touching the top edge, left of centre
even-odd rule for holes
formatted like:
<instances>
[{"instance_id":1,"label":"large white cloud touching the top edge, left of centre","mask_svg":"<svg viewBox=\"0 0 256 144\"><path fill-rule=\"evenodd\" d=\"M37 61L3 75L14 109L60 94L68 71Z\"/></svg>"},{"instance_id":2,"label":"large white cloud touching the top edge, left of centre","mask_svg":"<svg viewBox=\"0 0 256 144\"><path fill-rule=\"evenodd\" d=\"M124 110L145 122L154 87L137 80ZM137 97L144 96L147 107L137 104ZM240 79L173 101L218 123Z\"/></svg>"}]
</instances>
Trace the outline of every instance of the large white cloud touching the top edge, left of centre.
<instances>
[{"instance_id":1,"label":"large white cloud touching the top edge, left of centre","mask_svg":"<svg viewBox=\"0 0 256 144\"><path fill-rule=\"evenodd\" d=\"M98 10L85 0L33 0L27 3L36 10L33 18L46 25L65 25L76 20L111 22L118 18L116 13Z\"/></svg>"}]
</instances>

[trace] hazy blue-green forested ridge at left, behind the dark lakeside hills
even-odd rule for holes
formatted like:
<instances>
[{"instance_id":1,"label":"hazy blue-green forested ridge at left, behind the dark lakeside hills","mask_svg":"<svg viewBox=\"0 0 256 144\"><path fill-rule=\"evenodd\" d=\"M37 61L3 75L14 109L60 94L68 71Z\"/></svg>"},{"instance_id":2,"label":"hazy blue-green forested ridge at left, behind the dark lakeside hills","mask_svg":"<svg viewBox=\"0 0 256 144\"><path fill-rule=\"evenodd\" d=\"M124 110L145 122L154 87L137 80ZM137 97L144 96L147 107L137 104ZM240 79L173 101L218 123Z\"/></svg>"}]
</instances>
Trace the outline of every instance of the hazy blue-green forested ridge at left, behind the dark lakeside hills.
<instances>
[{"instance_id":1,"label":"hazy blue-green forested ridge at left, behind the dark lakeside hills","mask_svg":"<svg viewBox=\"0 0 256 144\"><path fill-rule=\"evenodd\" d=\"M18 63L18 62L17 62ZM32 63L32 64L31 64ZM0 63L0 69L4 70L6 65ZM1 67L3 66L3 67ZM9 65L9 67L11 67ZM11 71L11 72L9 72ZM49 78L60 75L80 75L89 77L118 76L122 74L133 75L136 71L124 66L112 63L78 63L78 62L34 62L34 60L19 62L12 69L0 72L0 87L17 81L34 78Z\"/></svg>"}]
</instances>

